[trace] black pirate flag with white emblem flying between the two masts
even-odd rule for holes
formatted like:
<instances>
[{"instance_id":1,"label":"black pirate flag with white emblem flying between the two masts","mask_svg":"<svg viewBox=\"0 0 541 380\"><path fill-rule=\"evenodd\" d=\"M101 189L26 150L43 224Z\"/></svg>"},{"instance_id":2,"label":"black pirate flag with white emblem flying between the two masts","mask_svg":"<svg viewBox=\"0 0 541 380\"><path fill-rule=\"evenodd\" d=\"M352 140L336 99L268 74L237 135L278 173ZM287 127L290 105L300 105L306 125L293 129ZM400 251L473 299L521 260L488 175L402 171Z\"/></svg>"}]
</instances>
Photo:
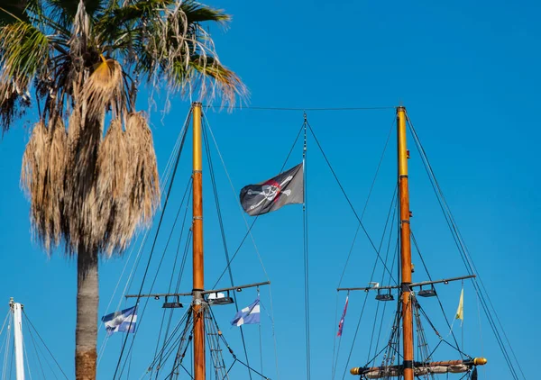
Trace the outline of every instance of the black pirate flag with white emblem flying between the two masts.
<instances>
[{"instance_id":1,"label":"black pirate flag with white emblem flying between the two masts","mask_svg":"<svg viewBox=\"0 0 541 380\"><path fill-rule=\"evenodd\" d=\"M286 204L304 203L304 167L298 164L278 176L241 190L241 204L251 216L271 213Z\"/></svg>"}]
</instances>

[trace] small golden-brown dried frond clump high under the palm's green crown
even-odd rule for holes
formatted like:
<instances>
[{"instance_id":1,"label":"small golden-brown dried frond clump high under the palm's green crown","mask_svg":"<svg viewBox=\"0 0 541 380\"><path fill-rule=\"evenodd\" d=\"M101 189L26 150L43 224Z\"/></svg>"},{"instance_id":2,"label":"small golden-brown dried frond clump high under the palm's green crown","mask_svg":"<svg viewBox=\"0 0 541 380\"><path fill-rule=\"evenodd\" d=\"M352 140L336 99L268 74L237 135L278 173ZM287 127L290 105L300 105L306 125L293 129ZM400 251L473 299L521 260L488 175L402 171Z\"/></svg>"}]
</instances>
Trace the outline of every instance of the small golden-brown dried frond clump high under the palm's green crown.
<instances>
[{"instance_id":1,"label":"small golden-brown dried frond clump high under the palm's green crown","mask_svg":"<svg viewBox=\"0 0 541 380\"><path fill-rule=\"evenodd\" d=\"M105 59L85 81L79 103L86 107L87 119L100 120L110 106L113 117L119 117L126 104L122 68L115 59Z\"/></svg>"}]
</instances>

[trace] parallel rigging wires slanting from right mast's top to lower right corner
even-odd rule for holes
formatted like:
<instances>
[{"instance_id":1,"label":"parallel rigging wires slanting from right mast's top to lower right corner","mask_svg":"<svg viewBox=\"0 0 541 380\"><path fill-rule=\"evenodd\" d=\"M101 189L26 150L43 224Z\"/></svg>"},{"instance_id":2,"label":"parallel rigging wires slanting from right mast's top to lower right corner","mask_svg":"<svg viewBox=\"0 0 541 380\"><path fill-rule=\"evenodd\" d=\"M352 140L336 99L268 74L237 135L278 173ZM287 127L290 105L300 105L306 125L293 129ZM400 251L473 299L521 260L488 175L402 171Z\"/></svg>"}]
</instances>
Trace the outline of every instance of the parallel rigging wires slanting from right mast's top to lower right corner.
<instances>
[{"instance_id":1,"label":"parallel rigging wires slanting from right mast's top to lower right corner","mask_svg":"<svg viewBox=\"0 0 541 380\"><path fill-rule=\"evenodd\" d=\"M526 376L524 375L524 372L522 371L522 367L520 366L520 363L518 362L518 359L517 359L517 356L515 355L515 352L514 352L514 349L512 348L510 342L509 342L509 338L507 336L507 333L505 332L505 330L503 329L503 326L501 324L501 321L500 321L500 317L498 316L498 313L496 312L496 309L494 308L492 302L491 302L491 298L481 280L481 276L479 275L479 272L477 271L477 268L475 267L475 264L473 263L473 260L472 260L472 257L471 255L469 254L469 250L467 249L466 245L465 245L465 242L462 238L462 234L460 233L460 231L458 230L458 227L456 225L456 222L454 221L454 216L453 216L453 213L451 213L451 210L449 208L449 205L447 204L446 200L445 200L445 196L443 194L443 191L439 185L439 183L437 182L437 179L436 179L436 174L432 168L432 166L430 165L430 162L426 156L426 151L425 149L423 148L422 144L420 143L420 140L418 138L418 135L417 135L417 131L415 130L415 127L413 125L413 123L411 122L411 120L409 119L409 116L407 114L407 120L408 120L408 125L409 125L409 129L414 137L414 140L416 142L416 146L417 146L417 150L419 152L419 155L421 156L422 158L422 161L423 161L423 164L426 168L426 173L430 179L430 182L434 188L434 191L436 193L436 198L437 198L437 201L445 215L445 221L447 222L447 225L449 227L449 230L451 231L451 234L454 238L454 241L455 241L455 244L459 250L459 253L461 255L461 258L463 259L463 263L464 263L464 267L466 267L466 270L468 271L468 274L473 274L475 273L477 275L476 278L473 279L472 281L472 284L473 284L473 287L476 291L476 293L480 294L480 299L481 299L481 306L483 308L483 311L485 312L485 315L487 316L487 319L489 320L489 324L491 325L491 329L492 329L492 332L494 333L495 337L496 337L496 340L498 342L498 345L500 346L500 349L501 349L501 352L503 354L503 357L504 359L506 360L507 364L508 364L508 367L509 367L509 372L511 373L511 375L513 376L513 378L515 379L518 379L518 374L517 374L517 371L515 370L515 368L513 367L512 365L512 360L511 360L511 357L509 355L509 352L508 352L508 349L506 348L506 345L505 345L505 342L503 341L503 339L501 338L500 336L500 330L503 332L503 335L507 341L507 346L509 347L510 351L511 351L511 355L513 356L513 358L515 359L515 363L517 364L518 366L518 370L520 371L521 375L523 378L526 378ZM478 284L481 285L479 285ZM486 295L486 299L485 299L485 295ZM487 303L487 300L488 300L488 303ZM490 305L490 306L489 306ZM498 324L500 325L500 329L498 329L498 324L496 324L496 321L494 321L494 318L492 317L492 313L496 316L496 321L498 321Z\"/></svg>"}]
</instances>

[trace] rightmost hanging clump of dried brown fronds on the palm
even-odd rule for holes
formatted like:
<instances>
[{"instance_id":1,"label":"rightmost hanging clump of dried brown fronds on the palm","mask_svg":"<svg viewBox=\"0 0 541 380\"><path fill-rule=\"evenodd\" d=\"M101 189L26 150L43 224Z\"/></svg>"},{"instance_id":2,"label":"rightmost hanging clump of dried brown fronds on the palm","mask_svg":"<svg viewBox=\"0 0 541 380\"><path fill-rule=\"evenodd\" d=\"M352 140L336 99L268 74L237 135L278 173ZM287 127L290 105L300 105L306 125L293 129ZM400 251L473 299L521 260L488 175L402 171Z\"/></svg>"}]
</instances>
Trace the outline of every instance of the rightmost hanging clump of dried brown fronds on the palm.
<instances>
[{"instance_id":1,"label":"rightmost hanging clump of dried brown fronds on the palm","mask_svg":"<svg viewBox=\"0 0 541 380\"><path fill-rule=\"evenodd\" d=\"M160 202L160 183L152 132L142 113L130 113L126 122L126 136L130 152L129 176L130 215L142 224L151 217Z\"/></svg>"}]
</instances>

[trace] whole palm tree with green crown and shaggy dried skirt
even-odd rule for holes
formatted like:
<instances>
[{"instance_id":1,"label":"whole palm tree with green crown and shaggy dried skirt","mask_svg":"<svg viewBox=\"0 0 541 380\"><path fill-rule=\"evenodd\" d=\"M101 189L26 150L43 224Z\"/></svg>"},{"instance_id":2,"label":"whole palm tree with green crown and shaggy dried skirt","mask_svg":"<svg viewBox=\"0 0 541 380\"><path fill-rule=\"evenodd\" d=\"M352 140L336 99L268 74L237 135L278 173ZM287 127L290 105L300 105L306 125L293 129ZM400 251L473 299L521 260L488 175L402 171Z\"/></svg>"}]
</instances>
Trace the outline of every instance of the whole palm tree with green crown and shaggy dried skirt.
<instances>
[{"instance_id":1,"label":"whole palm tree with green crown and shaggy dried skirt","mask_svg":"<svg viewBox=\"0 0 541 380\"><path fill-rule=\"evenodd\" d=\"M0 5L0 122L7 131L25 109L38 110L21 183L42 247L77 256L76 377L94 379L98 257L122 254L160 199L137 90L165 86L223 104L243 97L202 27L229 16L193 0L7 3Z\"/></svg>"}]
</instances>

